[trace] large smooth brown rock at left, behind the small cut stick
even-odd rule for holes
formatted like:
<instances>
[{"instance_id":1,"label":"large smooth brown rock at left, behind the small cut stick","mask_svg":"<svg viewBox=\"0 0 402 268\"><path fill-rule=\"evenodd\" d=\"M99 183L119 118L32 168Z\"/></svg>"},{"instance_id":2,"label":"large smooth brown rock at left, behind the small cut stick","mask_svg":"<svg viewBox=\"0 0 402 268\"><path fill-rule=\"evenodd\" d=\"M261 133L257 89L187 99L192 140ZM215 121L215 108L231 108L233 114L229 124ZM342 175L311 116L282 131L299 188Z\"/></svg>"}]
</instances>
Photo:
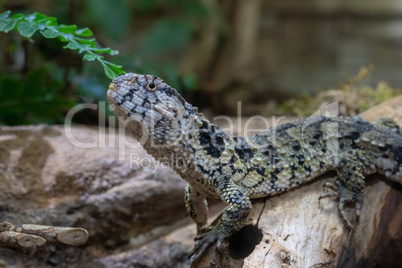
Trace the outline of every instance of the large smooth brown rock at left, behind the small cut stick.
<instances>
[{"instance_id":1,"label":"large smooth brown rock at left, behind the small cut stick","mask_svg":"<svg viewBox=\"0 0 402 268\"><path fill-rule=\"evenodd\" d=\"M63 126L0 127L0 222L85 228L89 241L68 251L89 263L119 246L167 234L182 219L181 225L191 221L185 181L158 166L133 139L90 127L71 130L74 138ZM65 263L66 248L40 250L32 258L0 248L0 259L8 265Z\"/></svg>"}]
</instances>

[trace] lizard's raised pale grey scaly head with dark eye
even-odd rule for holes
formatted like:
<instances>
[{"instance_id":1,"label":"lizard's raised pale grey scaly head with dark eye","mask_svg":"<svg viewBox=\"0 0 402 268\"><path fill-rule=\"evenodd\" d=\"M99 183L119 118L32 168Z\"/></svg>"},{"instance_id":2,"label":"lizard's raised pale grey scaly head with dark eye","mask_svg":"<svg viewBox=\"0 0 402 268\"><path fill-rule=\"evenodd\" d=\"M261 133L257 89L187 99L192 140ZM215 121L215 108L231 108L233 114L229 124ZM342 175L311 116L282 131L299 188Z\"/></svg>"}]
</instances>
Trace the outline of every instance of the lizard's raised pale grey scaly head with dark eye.
<instances>
[{"instance_id":1,"label":"lizard's raised pale grey scaly head with dark eye","mask_svg":"<svg viewBox=\"0 0 402 268\"><path fill-rule=\"evenodd\" d=\"M115 115L141 143L149 136L159 144L177 137L183 124L180 118L195 113L174 88L151 75L119 76L110 84L107 97Z\"/></svg>"}]
</instances>

